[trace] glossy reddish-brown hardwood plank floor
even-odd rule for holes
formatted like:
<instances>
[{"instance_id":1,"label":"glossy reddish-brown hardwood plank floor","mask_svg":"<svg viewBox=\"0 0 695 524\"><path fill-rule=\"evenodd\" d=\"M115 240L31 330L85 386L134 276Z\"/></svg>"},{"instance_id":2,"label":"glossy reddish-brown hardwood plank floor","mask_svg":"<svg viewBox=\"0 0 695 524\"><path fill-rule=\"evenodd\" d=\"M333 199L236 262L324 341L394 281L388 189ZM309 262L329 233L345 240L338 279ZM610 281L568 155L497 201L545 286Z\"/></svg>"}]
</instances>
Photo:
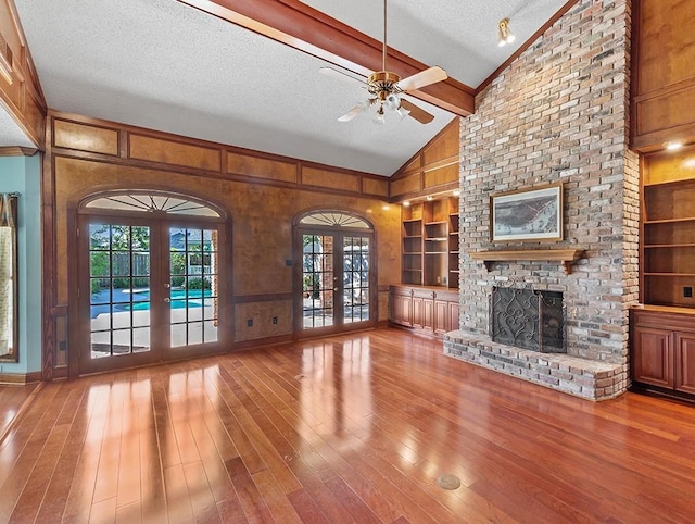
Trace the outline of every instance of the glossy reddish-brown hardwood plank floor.
<instances>
[{"instance_id":1,"label":"glossy reddish-brown hardwood plank floor","mask_svg":"<svg viewBox=\"0 0 695 524\"><path fill-rule=\"evenodd\" d=\"M682 523L694 494L695 408L397 329L46 384L0 444L0 522Z\"/></svg>"}]
</instances>

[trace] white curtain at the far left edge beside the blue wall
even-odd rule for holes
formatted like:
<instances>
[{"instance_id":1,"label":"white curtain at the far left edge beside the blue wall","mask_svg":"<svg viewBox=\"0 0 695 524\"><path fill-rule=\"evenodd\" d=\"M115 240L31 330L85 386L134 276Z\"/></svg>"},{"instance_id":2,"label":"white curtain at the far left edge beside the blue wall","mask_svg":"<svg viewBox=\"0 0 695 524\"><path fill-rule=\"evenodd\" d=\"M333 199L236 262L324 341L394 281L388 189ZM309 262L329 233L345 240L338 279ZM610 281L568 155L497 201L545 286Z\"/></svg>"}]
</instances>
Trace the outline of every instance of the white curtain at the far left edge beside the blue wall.
<instances>
[{"instance_id":1,"label":"white curtain at the far left edge beside the blue wall","mask_svg":"<svg viewBox=\"0 0 695 524\"><path fill-rule=\"evenodd\" d=\"M0 357L14 352L14 217L11 197L0 202Z\"/></svg>"}]
</instances>

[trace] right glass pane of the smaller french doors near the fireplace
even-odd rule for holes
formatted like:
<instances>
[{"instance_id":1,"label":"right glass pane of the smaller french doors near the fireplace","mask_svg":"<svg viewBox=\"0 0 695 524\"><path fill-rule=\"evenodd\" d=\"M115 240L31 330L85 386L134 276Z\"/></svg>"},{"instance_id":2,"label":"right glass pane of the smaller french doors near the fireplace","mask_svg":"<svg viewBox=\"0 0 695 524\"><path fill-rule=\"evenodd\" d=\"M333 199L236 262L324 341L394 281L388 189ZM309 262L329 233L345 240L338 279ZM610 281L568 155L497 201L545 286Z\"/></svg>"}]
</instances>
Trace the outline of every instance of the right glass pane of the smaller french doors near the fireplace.
<instances>
[{"instance_id":1,"label":"right glass pane of the smaller french doors near the fireplace","mask_svg":"<svg viewBox=\"0 0 695 524\"><path fill-rule=\"evenodd\" d=\"M343 237L343 323L369 320L369 238Z\"/></svg>"}]
</instances>

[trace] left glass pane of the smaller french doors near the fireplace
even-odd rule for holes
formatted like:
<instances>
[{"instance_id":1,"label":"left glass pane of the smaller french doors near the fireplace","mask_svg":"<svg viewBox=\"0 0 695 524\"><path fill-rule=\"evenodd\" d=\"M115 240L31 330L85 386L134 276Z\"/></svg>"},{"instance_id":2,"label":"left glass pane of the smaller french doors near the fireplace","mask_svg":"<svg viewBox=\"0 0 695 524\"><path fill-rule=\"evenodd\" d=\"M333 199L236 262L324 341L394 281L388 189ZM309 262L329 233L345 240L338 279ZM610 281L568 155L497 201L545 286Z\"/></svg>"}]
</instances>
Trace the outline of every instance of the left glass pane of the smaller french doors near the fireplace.
<instances>
[{"instance_id":1,"label":"left glass pane of the smaller french doors near the fireplace","mask_svg":"<svg viewBox=\"0 0 695 524\"><path fill-rule=\"evenodd\" d=\"M303 235L302 304L303 327L334 324L333 236Z\"/></svg>"}]
</instances>

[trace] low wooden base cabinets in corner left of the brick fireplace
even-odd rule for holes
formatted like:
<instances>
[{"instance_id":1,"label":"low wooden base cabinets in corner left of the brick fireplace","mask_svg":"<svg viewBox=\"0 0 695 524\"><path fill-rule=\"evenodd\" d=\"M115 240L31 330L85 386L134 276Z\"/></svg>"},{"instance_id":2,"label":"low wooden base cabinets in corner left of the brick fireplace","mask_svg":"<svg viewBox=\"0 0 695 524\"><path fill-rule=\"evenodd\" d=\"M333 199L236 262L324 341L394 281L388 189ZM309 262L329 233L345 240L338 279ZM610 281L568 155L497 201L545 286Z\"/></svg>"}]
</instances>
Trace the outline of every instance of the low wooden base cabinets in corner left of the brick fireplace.
<instances>
[{"instance_id":1,"label":"low wooden base cabinets in corner left of the brick fireplace","mask_svg":"<svg viewBox=\"0 0 695 524\"><path fill-rule=\"evenodd\" d=\"M391 286L390 315L393 324L442 335L458 329L458 292L421 286Z\"/></svg>"}]
</instances>

